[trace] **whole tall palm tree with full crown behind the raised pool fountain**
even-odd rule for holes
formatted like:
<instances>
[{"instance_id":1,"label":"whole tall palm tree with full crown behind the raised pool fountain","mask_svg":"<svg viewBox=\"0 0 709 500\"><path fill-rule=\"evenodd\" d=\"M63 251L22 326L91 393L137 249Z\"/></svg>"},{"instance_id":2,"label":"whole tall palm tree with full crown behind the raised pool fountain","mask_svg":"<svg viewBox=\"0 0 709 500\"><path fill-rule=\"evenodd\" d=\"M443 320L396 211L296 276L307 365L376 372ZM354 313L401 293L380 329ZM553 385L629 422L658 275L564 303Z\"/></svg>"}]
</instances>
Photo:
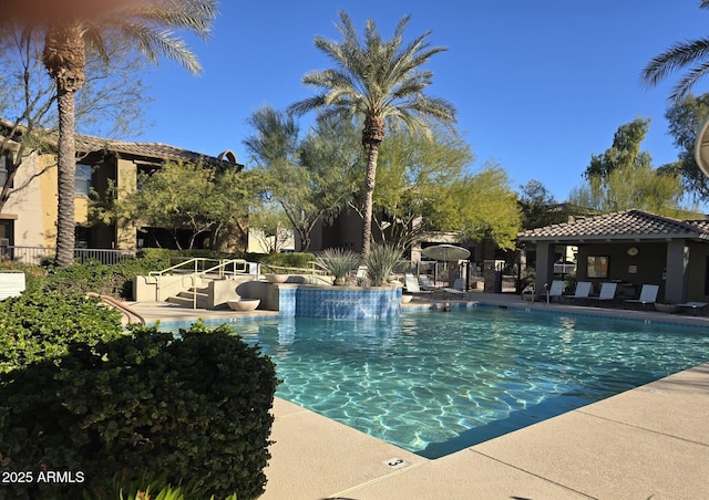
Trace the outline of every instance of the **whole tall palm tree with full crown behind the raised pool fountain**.
<instances>
[{"instance_id":1,"label":"whole tall palm tree with full crown behind the raised pool fountain","mask_svg":"<svg viewBox=\"0 0 709 500\"><path fill-rule=\"evenodd\" d=\"M289 111L305 114L312 110L363 121L362 145L367 153L364 178L364 230L362 256L371 248L372 199L377 179L377 158L387 126L404 125L408 129L429 131L427 118L442 123L455 122L455 108L442 98L427 97L423 93L432 83L433 73L422 70L432 55L443 52L431 48L430 31L404 45L403 31L409 17L399 21L391 40L383 41L374 21L364 27L360 42L357 30L346 12L340 12L337 25L341 42L315 39L315 46L328 55L336 69L307 73L302 83L320 93L292 104Z\"/></svg>"}]
</instances>

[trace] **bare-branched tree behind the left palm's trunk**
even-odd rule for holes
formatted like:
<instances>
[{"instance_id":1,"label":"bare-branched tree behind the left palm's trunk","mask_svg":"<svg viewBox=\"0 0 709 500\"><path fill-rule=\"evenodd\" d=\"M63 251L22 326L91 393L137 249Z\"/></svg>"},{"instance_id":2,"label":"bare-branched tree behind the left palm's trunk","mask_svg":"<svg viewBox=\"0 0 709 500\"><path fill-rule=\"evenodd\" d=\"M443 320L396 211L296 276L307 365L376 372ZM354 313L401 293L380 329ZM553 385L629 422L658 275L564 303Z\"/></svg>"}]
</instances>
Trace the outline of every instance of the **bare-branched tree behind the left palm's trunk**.
<instances>
[{"instance_id":1,"label":"bare-branched tree behind the left palm's trunk","mask_svg":"<svg viewBox=\"0 0 709 500\"><path fill-rule=\"evenodd\" d=\"M12 150L7 157L8 176L0 186L0 211L10 199L30 183L54 168L44 166L27 173L18 184L17 174L28 155L35 150L55 152L52 139L56 134L56 85L43 74L42 40L29 34L10 32L0 39L0 116L4 133L0 152ZM140 77L142 61L120 48L109 48L111 65L96 53L88 55L83 92L76 98L76 131L101 137L117 137L140 128L142 106L148 98ZM131 81L131 85L125 85Z\"/></svg>"}]
</instances>

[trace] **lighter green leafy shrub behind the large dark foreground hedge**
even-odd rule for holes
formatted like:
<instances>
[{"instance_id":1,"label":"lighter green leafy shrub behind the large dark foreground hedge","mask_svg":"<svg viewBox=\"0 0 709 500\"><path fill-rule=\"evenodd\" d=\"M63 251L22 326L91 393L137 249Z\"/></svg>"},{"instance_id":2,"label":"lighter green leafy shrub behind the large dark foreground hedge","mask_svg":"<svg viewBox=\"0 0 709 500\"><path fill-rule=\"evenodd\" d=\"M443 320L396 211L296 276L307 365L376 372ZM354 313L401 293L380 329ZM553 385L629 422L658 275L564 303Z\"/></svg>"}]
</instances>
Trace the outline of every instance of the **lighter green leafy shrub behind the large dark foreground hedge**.
<instances>
[{"instance_id":1,"label":"lighter green leafy shrub behind the large dark foreground hedge","mask_svg":"<svg viewBox=\"0 0 709 500\"><path fill-rule=\"evenodd\" d=\"M60 291L28 291L0 301L0 373L59 362L72 343L94 345L123 335L117 311Z\"/></svg>"}]
</instances>

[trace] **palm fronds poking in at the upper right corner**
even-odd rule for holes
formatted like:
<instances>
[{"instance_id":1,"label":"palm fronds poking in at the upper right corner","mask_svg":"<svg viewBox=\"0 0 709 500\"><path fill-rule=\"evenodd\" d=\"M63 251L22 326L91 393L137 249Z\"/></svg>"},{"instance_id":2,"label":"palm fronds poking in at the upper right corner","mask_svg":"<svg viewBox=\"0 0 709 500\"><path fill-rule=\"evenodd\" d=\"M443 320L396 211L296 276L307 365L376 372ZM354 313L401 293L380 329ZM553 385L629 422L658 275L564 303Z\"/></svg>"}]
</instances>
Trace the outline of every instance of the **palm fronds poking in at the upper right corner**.
<instances>
[{"instance_id":1,"label":"palm fronds poking in at the upper right corner","mask_svg":"<svg viewBox=\"0 0 709 500\"><path fill-rule=\"evenodd\" d=\"M709 9L709 0L701 0L700 9ZM665 52L653 58L643 69L640 80L649 86L657 85L670 73L689 67L689 72L672 87L669 98L679 102L687 96L693 84L709 73L709 38L677 42Z\"/></svg>"}]
</instances>

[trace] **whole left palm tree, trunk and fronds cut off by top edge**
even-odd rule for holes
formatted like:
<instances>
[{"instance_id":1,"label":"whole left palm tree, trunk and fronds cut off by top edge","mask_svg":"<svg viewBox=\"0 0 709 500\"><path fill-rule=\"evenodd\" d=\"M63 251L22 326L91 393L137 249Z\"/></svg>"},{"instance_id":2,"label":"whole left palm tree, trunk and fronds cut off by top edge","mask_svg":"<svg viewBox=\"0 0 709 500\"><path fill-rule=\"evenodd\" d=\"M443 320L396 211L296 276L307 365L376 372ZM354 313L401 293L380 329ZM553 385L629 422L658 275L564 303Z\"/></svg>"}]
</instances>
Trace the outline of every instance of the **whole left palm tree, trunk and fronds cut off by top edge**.
<instances>
[{"instance_id":1,"label":"whole left palm tree, trunk and fronds cut off by top edge","mask_svg":"<svg viewBox=\"0 0 709 500\"><path fill-rule=\"evenodd\" d=\"M42 61L56 82L59 112L59 206L56 263L73 262L74 247L74 93L84 83L86 51L107 54L110 44L137 50L156 62L163 55L198 73L201 65L185 42L172 30L186 29L203 39L216 17L216 0L144 0L124 2L82 19L44 20ZM37 27L31 27L37 30ZM106 61L110 63L110 61Z\"/></svg>"}]
</instances>

